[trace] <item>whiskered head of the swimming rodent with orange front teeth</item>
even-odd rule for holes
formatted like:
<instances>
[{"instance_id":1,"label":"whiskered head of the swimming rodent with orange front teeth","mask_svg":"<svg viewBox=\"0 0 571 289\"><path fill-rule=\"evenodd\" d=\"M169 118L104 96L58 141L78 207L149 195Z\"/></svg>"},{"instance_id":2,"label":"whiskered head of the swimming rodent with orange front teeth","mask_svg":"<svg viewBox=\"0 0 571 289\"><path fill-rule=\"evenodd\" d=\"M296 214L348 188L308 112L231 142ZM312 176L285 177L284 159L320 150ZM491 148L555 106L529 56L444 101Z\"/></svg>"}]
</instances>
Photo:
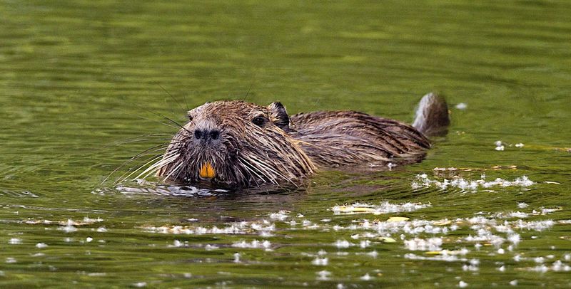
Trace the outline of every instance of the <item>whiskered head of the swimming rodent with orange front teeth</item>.
<instances>
[{"instance_id":1,"label":"whiskered head of the swimming rodent with orange front teeth","mask_svg":"<svg viewBox=\"0 0 571 289\"><path fill-rule=\"evenodd\" d=\"M288 135L289 117L281 103L216 101L188 111L188 118L156 164L158 177L247 187L299 184L315 169Z\"/></svg>"}]
</instances>

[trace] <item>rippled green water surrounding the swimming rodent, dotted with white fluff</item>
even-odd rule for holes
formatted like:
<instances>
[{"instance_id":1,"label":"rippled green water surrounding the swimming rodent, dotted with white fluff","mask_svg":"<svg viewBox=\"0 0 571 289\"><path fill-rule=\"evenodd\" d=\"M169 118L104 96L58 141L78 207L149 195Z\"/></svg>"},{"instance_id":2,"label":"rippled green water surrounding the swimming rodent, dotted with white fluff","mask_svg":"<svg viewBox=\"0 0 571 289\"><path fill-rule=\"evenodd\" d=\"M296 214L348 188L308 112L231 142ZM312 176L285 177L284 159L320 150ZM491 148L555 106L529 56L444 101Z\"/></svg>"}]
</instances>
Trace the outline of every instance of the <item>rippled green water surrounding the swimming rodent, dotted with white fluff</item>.
<instances>
[{"instance_id":1,"label":"rippled green water surrounding the swimming rodent, dotted with white fluff","mask_svg":"<svg viewBox=\"0 0 571 289\"><path fill-rule=\"evenodd\" d=\"M571 285L568 1L187 2L0 0L0 287ZM270 195L113 184L176 132L156 114L246 98L412 121L430 91L452 125L420 164ZM419 208L333 211L385 201Z\"/></svg>"}]
</instances>

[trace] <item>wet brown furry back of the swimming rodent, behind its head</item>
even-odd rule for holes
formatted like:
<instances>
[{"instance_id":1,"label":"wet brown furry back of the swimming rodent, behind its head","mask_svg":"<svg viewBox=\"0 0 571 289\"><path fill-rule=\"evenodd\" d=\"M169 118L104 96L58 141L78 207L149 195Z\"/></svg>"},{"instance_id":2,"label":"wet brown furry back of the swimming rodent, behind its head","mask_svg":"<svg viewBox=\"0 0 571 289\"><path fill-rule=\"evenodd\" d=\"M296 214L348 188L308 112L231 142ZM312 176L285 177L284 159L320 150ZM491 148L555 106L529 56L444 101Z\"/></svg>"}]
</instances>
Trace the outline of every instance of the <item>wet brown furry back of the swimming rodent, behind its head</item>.
<instances>
[{"instance_id":1,"label":"wet brown furry back of the swimming rodent, behind its head","mask_svg":"<svg viewBox=\"0 0 571 289\"><path fill-rule=\"evenodd\" d=\"M320 167L386 166L423 159L430 147L414 127L363 112L300 113L291 117L301 147Z\"/></svg>"}]
</instances>

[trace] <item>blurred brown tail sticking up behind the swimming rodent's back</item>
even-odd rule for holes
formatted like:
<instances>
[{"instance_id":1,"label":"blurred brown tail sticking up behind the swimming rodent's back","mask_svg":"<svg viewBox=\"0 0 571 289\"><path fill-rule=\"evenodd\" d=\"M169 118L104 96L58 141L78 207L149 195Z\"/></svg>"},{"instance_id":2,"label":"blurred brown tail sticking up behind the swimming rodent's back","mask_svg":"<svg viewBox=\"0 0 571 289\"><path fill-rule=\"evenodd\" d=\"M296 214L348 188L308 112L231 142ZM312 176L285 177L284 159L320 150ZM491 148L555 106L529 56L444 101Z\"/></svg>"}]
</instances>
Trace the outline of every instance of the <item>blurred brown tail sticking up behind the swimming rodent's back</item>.
<instances>
[{"instance_id":1,"label":"blurred brown tail sticking up behind the swimming rodent's back","mask_svg":"<svg viewBox=\"0 0 571 289\"><path fill-rule=\"evenodd\" d=\"M450 117L448 105L444 98L435 93L428 93L418 103L413 127L427 137L443 136L448 133Z\"/></svg>"}]
</instances>

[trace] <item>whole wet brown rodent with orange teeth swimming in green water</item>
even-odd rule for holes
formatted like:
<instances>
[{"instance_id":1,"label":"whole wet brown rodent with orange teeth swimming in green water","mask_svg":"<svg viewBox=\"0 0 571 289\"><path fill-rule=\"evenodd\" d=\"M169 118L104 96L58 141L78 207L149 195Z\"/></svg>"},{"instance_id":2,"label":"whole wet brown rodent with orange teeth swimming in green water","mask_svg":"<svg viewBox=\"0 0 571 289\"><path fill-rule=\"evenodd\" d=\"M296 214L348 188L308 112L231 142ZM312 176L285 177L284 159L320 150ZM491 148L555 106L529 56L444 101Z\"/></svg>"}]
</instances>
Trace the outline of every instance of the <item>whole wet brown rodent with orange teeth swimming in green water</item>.
<instances>
[{"instance_id":1,"label":"whole wet brown rodent with orange teeth swimming in green water","mask_svg":"<svg viewBox=\"0 0 571 289\"><path fill-rule=\"evenodd\" d=\"M163 180L212 182L244 188L294 184L321 168L381 167L420 162L427 136L445 133L448 107L430 93L413 125L363 112L308 112L288 116L281 103L206 103L188 112L189 122L152 167Z\"/></svg>"}]
</instances>

